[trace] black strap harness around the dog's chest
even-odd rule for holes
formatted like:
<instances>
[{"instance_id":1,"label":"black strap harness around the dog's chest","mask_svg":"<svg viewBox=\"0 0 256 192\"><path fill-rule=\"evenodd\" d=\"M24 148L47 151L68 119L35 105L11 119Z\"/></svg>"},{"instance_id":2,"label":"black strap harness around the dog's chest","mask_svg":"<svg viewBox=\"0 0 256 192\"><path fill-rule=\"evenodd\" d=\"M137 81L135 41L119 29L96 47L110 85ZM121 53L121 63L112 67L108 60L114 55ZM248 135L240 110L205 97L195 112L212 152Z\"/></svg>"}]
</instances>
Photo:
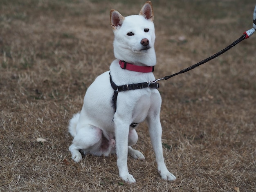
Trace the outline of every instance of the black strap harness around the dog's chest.
<instances>
[{"instance_id":1,"label":"black strap harness around the dog's chest","mask_svg":"<svg viewBox=\"0 0 256 192\"><path fill-rule=\"evenodd\" d=\"M114 89L114 94L112 97L112 107L115 109L115 112L117 110L117 95L119 92L124 92L124 91L128 91L128 90L135 90L135 89L143 89L143 88L153 88L153 89L158 89L159 88L159 84L158 83L148 83L148 82L144 82L144 83L134 83L134 84L126 84L126 85L116 85L110 75L109 72L109 78L110 78L110 84L111 87ZM132 123L130 126L131 127L136 127L138 125L138 123Z\"/></svg>"}]
</instances>

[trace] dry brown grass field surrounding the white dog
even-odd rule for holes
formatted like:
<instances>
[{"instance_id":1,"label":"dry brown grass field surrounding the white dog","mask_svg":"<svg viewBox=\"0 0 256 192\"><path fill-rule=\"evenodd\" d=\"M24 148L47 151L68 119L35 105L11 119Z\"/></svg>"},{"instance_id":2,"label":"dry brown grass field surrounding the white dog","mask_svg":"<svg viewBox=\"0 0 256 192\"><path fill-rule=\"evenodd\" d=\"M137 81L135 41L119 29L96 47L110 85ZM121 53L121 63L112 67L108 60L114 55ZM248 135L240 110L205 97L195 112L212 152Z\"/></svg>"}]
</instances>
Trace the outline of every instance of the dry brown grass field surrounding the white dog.
<instances>
[{"instance_id":1,"label":"dry brown grass field surrounding the white dog","mask_svg":"<svg viewBox=\"0 0 256 192\"><path fill-rule=\"evenodd\" d=\"M256 191L256 35L185 74L160 82L162 143L157 173L148 129L128 156L74 163L67 125L87 87L114 60L110 9L137 14L146 0L0 0L0 191ZM152 0L155 77L203 60L252 28L255 0ZM37 141L43 138L45 141Z\"/></svg>"}]
</instances>

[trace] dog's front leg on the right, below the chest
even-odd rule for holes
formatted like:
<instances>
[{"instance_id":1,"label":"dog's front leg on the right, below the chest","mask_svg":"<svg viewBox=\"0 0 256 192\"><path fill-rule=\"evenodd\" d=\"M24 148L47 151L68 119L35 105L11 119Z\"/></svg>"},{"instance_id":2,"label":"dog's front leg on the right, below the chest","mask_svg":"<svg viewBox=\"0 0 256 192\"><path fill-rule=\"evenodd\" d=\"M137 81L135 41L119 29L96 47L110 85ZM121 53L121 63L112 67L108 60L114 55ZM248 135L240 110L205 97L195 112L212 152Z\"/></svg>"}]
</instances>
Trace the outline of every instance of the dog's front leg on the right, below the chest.
<instances>
[{"instance_id":1,"label":"dog's front leg on the right, below the chest","mask_svg":"<svg viewBox=\"0 0 256 192\"><path fill-rule=\"evenodd\" d=\"M147 123L151 144L155 152L157 170L163 179L173 181L176 179L176 177L171 172L168 171L164 163L162 148L162 126L160 123L159 114L154 112L152 115L149 115L147 117Z\"/></svg>"}]
</instances>

